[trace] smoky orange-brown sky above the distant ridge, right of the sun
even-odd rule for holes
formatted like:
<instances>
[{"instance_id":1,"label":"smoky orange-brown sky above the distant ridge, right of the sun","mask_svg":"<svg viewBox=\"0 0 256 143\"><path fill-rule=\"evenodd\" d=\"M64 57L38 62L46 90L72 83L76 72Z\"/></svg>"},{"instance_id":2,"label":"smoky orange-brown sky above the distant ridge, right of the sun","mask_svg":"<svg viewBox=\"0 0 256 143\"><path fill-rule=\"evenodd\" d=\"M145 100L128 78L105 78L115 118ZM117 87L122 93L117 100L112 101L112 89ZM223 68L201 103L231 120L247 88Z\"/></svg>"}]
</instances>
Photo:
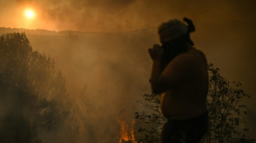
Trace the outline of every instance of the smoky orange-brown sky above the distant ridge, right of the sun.
<instances>
[{"instance_id":1,"label":"smoky orange-brown sky above the distant ridge, right of the sun","mask_svg":"<svg viewBox=\"0 0 256 143\"><path fill-rule=\"evenodd\" d=\"M17 0L35 5L45 21L59 30L123 31L157 26L161 21L189 16L201 21L255 21L255 2L247 1L168 1L168 0Z\"/></svg>"}]
</instances>

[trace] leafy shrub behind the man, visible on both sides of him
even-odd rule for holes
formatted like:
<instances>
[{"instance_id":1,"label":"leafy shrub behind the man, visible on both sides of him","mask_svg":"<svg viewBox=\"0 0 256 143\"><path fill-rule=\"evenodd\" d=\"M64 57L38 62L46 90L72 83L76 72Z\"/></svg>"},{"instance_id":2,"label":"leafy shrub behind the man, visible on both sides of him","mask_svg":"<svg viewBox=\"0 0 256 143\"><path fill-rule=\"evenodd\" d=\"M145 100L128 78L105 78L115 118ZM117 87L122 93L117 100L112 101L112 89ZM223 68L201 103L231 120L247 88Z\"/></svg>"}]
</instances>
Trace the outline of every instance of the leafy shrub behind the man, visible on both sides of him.
<instances>
[{"instance_id":1,"label":"leafy shrub behind the man, visible on both sides of him","mask_svg":"<svg viewBox=\"0 0 256 143\"><path fill-rule=\"evenodd\" d=\"M246 114L247 107L241 100L249 98L244 90L239 89L240 83L230 82L220 75L220 69L209 64L209 92L207 95L207 108L209 110L210 128L201 142L253 142L245 136L248 128L241 129L240 118ZM135 138L146 143L159 142L161 127L165 118L160 113L160 95L143 95L139 103L145 108L135 113L138 124Z\"/></svg>"}]
</instances>

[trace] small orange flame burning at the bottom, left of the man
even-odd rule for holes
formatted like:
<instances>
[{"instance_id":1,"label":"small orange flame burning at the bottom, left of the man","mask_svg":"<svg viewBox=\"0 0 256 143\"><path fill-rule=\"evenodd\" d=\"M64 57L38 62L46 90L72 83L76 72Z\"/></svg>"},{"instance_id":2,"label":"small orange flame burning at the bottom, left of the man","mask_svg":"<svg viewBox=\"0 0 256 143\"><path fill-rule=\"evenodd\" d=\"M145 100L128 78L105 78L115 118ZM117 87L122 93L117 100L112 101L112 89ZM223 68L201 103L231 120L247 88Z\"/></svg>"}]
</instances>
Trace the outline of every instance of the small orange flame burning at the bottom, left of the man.
<instances>
[{"instance_id":1,"label":"small orange flame burning at the bottom, left of the man","mask_svg":"<svg viewBox=\"0 0 256 143\"><path fill-rule=\"evenodd\" d=\"M120 123L120 126L121 126L119 143L123 143L123 142L137 143L137 141L135 141L135 134L133 130L133 125L135 122L134 121L132 122L131 127L129 127L127 122L124 120L118 120L118 122Z\"/></svg>"}]
</instances>

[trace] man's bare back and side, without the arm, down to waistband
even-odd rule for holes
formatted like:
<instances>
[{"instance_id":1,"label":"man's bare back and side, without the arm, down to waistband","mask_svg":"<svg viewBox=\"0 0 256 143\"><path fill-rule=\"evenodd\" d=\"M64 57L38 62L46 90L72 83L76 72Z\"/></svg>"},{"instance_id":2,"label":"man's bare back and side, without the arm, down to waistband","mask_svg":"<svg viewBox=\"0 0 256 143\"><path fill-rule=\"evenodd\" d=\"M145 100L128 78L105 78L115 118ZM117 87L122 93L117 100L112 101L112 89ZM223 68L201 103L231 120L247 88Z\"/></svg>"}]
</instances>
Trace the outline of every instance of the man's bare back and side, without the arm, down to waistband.
<instances>
[{"instance_id":1,"label":"man's bare back and side, without the arm, down to waistband","mask_svg":"<svg viewBox=\"0 0 256 143\"><path fill-rule=\"evenodd\" d=\"M195 118L206 111L206 95L208 89L207 62L203 53L196 49L188 52L193 55L197 65L191 76L175 89L162 95L162 113L167 118Z\"/></svg>"}]
</instances>

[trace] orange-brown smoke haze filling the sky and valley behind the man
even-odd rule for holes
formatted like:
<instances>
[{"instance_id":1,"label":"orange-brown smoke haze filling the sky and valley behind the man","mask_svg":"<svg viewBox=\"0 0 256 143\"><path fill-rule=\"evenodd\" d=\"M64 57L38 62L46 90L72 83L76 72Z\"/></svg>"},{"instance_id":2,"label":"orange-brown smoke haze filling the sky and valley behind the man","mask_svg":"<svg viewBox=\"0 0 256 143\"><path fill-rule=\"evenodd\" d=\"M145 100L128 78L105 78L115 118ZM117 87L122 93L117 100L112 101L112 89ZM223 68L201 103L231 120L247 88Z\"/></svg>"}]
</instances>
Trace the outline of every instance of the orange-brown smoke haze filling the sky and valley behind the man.
<instances>
[{"instance_id":1,"label":"orange-brown smoke haze filling the sky and valley behind the man","mask_svg":"<svg viewBox=\"0 0 256 143\"><path fill-rule=\"evenodd\" d=\"M26 30L26 35L33 48L55 59L73 99L80 99L85 88L83 98L90 105L78 104L82 113L88 107L92 113L83 116L89 121L105 121L99 125L88 122L87 126L101 128L92 131L95 138L103 136L122 112L127 113L127 120L133 118L135 100L150 92L147 49L159 43L158 25L171 18L192 19L196 47L206 53L208 62L220 67L223 76L243 84L252 96L245 102L256 110L254 0L0 0L0 26L22 27L20 19L12 20L11 13L26 5L38 11L33 28L59 31ZM17 13L14 18L19 17ZM12 30L2 33L8 31ZM111 133L118 130L113 126ZM111 136L106 138L111 140Z\"/></svg>"}]
</instances>

